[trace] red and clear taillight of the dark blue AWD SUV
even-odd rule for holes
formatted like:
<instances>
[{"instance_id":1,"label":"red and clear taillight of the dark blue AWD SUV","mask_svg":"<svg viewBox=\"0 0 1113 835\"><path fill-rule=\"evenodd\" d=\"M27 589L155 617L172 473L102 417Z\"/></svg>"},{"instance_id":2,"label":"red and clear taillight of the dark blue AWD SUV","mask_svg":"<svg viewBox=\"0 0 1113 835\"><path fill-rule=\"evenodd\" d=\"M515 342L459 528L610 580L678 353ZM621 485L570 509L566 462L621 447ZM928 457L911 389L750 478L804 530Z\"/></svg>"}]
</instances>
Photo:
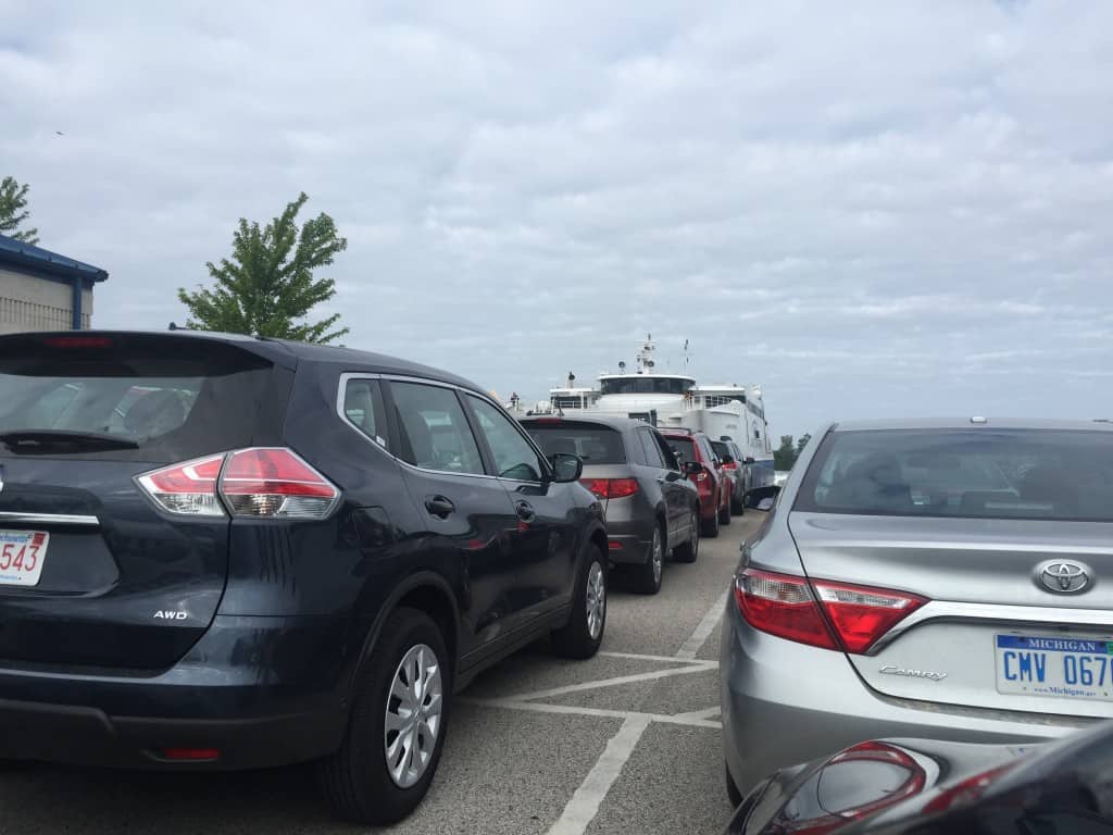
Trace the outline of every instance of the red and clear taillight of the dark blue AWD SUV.
<instances>
[{"instance_id":1,"label":"red and clear taillight of the dark blue AWD SUV","mask_svg":"<svg viewBox=\"0 0 1113 835\"><path fill-rule=\"evenodd\" d=\"M184 515L323 519L339 490L284 446L171 464L136 478L159 507Z\"/></svg>"}]
</instances>

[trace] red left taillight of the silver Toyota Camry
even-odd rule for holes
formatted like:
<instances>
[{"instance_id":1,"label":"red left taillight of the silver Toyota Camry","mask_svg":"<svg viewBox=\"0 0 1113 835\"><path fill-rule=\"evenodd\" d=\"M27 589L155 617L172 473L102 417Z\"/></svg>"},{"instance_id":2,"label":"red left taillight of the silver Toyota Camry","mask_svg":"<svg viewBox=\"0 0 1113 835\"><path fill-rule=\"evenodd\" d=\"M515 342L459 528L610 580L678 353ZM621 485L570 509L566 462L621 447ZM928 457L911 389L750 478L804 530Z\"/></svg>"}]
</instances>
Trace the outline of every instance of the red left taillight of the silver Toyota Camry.
<instances>
[{"instance_id":1,"label":"red left taillight of the silver Toyota Camry","mask_svg":"<svg viewBox=\"0 0 1113 835\"><path fill-rule=\"evenodd\" d=\"M866 652L927 601L916 595L745 569L735 600L755 629L824 649Z\"/></svg>"}]
</instances>

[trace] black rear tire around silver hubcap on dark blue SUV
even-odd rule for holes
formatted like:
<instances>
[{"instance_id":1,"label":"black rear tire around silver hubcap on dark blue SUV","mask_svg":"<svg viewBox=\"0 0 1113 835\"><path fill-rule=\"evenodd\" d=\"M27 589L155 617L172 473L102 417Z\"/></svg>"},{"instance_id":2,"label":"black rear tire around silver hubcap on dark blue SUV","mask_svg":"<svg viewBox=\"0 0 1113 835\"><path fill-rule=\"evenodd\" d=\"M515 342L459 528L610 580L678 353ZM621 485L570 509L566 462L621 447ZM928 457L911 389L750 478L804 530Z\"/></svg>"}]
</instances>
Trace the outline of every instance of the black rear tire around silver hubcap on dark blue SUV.
<instances>
[{"instance_id":1,"label":"black rear tire around silver hubcap on dark blue SUV","mask_svg":"<svg viewBox=\"0 0 1113 835\"><path fill-rule=\"evenodd\" d=\"M441 762L452 694L452 670L446 664L449 654L444 638L425 612L396 609L383 625L381 636L356 681L344 741L339 750L321 760L317 767L322 790L333 811L345 819L370 825L396 823L424 798ZM402 787L387 769L386 711L392 701L397 701L391 688L395 676L404 672L401 669L403 660L422 645L432 650L440 672L439 730L432 756L420 779ZM433 678L431 675L430 680ZM405 730L395 738L403 733ZM424 738L420 727L414 734L414 738Z\"/></svg>"}]
</instances>

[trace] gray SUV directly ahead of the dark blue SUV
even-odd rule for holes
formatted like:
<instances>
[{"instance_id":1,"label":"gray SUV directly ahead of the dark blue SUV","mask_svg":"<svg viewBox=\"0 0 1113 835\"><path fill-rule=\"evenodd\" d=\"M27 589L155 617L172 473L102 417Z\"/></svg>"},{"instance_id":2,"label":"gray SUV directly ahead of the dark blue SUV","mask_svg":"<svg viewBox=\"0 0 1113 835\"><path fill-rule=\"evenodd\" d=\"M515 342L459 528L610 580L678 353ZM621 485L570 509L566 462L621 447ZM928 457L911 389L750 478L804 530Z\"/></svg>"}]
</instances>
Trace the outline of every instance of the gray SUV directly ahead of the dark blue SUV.
<instances>
[{"instance_id":1,"label":"gray SUV directly ahead of the dark blue SUV","mask_svg":"<svg viewBox=\"0 0 1113 835\"><path fill-rule=\"evenodd\" d=\"M603 505L611 562L634 588L656 595L666 554L695 562L699 554L699 494L669 444L629 418L524 418L522 425L546 455L583 461L581 483Z\"/></svg>"}]
</instances>

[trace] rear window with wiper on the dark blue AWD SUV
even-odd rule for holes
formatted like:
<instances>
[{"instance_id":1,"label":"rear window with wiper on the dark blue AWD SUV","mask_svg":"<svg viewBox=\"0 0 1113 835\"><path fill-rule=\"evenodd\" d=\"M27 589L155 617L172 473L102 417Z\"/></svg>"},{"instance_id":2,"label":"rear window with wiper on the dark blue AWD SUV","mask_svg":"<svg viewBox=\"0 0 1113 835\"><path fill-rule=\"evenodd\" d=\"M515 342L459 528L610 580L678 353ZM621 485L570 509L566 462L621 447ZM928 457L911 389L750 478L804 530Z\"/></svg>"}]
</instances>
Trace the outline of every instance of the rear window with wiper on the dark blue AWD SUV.
<instances>
[{"instance_id":1,"label":"rear window with wiper on the dark blue AWD SUV","mask_svg":"<svg viewBox=\"0 0 1113 835\"><path fill-rule=\"evenodd\" d=\"M188 350L165 337L76 344L0 342L0 435L43 433L8 451L180 461L250 444L270 369L260 357L199 340ZM81 434L134 449L86 444Z\"/></svg>"}]
</instances>

